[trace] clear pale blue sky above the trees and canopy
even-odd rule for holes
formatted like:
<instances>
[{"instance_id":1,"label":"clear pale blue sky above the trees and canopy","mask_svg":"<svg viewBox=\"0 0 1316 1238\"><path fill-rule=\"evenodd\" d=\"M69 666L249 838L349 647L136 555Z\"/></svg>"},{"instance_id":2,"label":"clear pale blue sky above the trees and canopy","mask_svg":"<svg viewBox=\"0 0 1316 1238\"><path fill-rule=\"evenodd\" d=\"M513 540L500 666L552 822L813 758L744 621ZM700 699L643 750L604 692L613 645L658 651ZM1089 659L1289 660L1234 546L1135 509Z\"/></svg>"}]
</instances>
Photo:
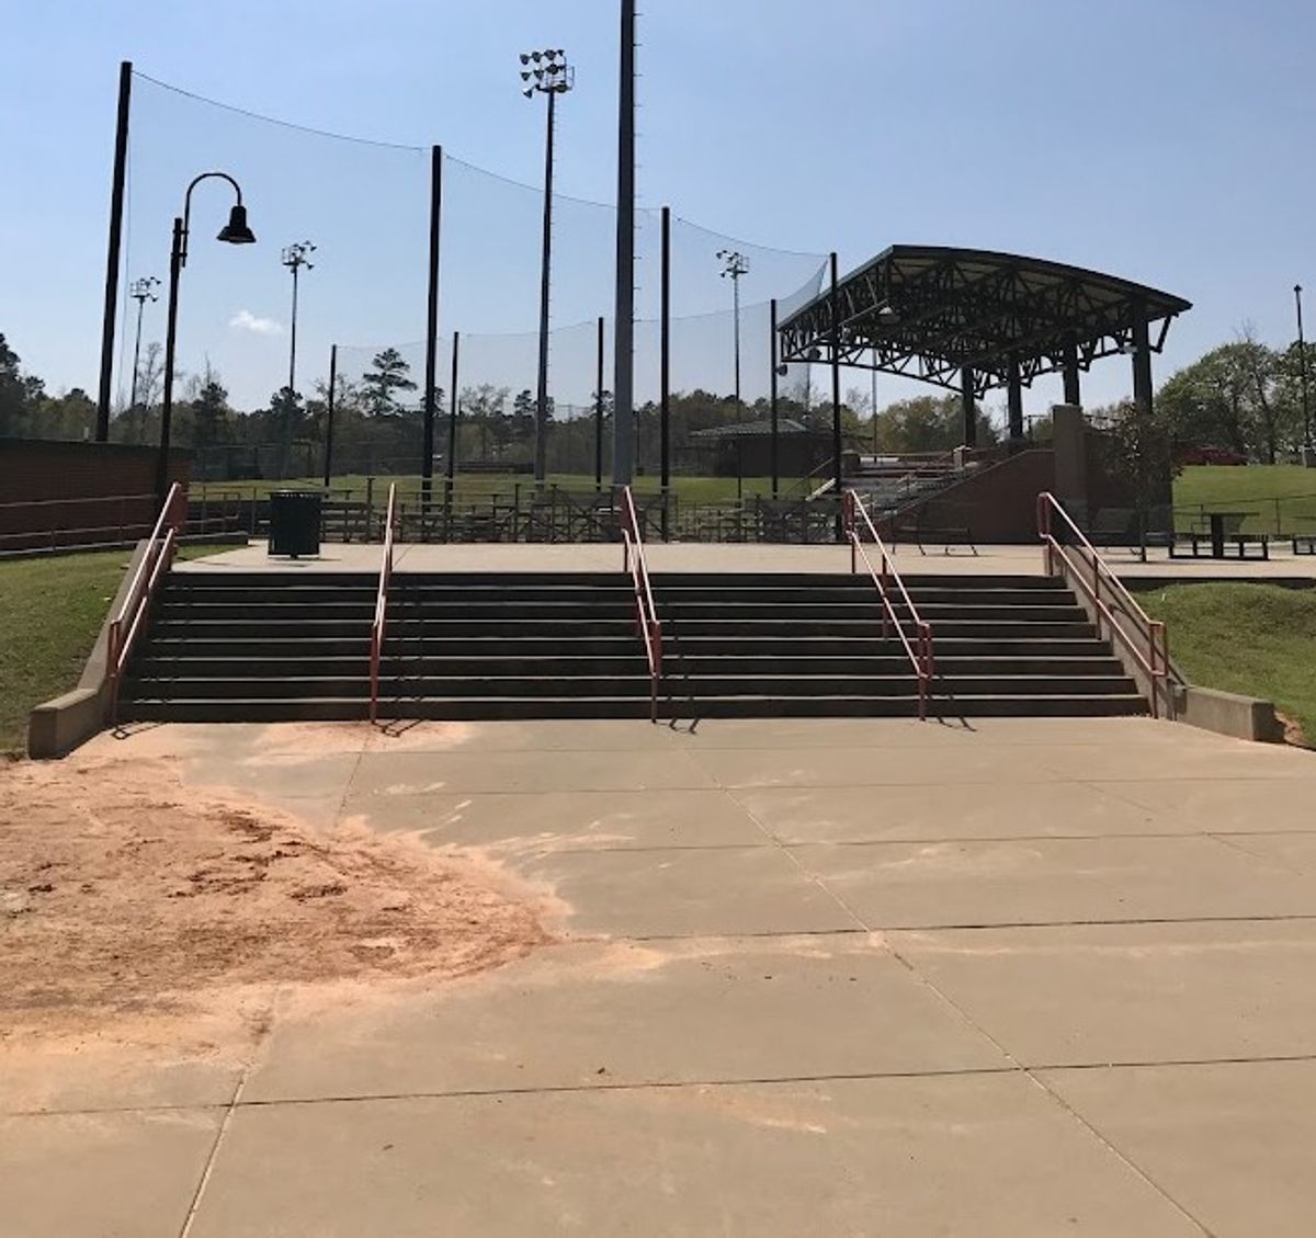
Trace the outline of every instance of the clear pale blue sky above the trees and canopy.
<instances>
[{"instance_id":1,"label":"clear pale blue sky above the trees and canopy","mask_svg":"<svg viewBox=\"0 0 1316 1238\"><path fill-rule=\"evenodd\" d=\"M245 183L262 243L213 245L228 203L215 187L199 193L180 337L184 368L208 357L240 404L280 382L288 282L278 250L303 235L321 250L303 284L300 385L322 372L330 342L420 338L424 149L441 142L512 182L540 183L542 100L517 91L519 51L557 45L576 66L559 112L559 191L596 201L615 192L615 0L13 8L5 34L18 55L0 76L11 170L0 195L0 330L53 389L96 379L122 58L253 112L417 147L316 139L138 84L128 278L166 274L168 220L191 171L224 159ZM640 30L641 200L765 246L750 251L746 303L784 297L815 268L771 247L836 249L842 267L891 242L1037 254L1194 301L1157 362L1163 379L1245 322L1287 341L1292 284L1316 296L1316 96L1304 64L1316 7L650 0ZM445 210L443 330L475 333L472 378L484 347L501 358L488 362L490 376L505 370L529 385L530 338L480 337L533 332L538 199L453 163ZM559 325L608 310L609 221L607 209L559 209ZM647 310L653 221L641 232ZM726 304L713 258L722 243L678 228L678 313ZM162 309L151 310L147 339L162 333ZM761 375L755 313L746 368ZM684 328L678 385L729 387L726 330L725 316ZM588 351L588 328L561 337L561 399L587 395ZM866 376L851 382L867 387ZM882 400L908 392L879 383ZM1088 399L1116 399L1128 383L1124 363L1105 362ZM1057 397L1044 382L1028 404L1041 410Z\"/></svg>"}]
</instances>

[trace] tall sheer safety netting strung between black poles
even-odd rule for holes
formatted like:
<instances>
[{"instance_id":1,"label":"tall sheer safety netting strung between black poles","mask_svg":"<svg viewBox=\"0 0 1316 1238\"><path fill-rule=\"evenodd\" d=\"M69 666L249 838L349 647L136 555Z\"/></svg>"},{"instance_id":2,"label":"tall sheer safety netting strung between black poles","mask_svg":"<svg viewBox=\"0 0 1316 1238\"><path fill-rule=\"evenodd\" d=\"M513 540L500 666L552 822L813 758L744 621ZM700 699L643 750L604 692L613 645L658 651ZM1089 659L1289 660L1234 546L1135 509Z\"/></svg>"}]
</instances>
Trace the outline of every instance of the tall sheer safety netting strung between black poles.
<instances>
[{"instance_id":1,"label":"tall sheer safety netting strung between black poles","mask_svg":"<svg viewBox=\"0 0 1316 1238\"><path fill-rule=\"evenodd\" d=\"M170 224L193 176L225 171L242 186L258 243L213 237L232 191L203 183L193 195L191 243L182 276L175 441L199 451L197 475L318 475L328 449L329 358L337 345L332 474L422 470L430 150L336 137L197 99L141 74L133 82L129 193L124 239L114 437L149 441L159 395L163 301L149 305L138 401L133 387L136 305L132 280L167 275ZM438 418L434 472L449 459L453 337L458 350L459 472L517 474L533 459L538 376L542 191L447 157L442 164ZM592 480L599 435L597 321L604 317L603 467L611 472L611 391L616 212L555 195L549 338L551 475ZM290 383L290 271L284 246L315 242L300 274L296 396ZM658 325L661 213L640 210L636 228L636 464L661 467ZM737 314L722 254L738 278ZM824 259L749 245L672 216L670 330L670 467L674 475L766 474L771 384L769 301L784 316L821 285ZM153 347L154 346L154 347ZM150 367L154 366L154 370ZM808 367L779 378L783 476L803 476L824 450L822 420ZM201 399L222 388L222 414ZM725 432L725 433L719 433Z\"/></svg>"}]
</instances>

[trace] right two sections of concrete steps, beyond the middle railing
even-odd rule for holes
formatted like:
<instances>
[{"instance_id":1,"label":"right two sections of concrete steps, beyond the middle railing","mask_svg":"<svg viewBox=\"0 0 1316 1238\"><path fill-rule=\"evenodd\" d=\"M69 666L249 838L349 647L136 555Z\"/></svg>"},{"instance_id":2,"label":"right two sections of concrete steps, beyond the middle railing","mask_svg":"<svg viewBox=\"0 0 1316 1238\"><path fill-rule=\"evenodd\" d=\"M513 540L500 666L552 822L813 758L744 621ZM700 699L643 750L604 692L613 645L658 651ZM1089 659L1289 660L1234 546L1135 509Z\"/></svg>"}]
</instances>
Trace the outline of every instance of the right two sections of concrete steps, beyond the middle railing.
<instances>
[{"instance_id":1,"label":"right two sections of concrete steps, beyond the middle railing","mask_svg":"<svg viewBox=\"0 0 1316 1238\"><path fill-rule=\"evenodd\" d=\"M871 579L654 575L676 716L909 716L917 679ZM933 626L930 714L1103 716L1146 703L1074 596L1038 576L907 576Z\"/></svg>"}]
</instances>

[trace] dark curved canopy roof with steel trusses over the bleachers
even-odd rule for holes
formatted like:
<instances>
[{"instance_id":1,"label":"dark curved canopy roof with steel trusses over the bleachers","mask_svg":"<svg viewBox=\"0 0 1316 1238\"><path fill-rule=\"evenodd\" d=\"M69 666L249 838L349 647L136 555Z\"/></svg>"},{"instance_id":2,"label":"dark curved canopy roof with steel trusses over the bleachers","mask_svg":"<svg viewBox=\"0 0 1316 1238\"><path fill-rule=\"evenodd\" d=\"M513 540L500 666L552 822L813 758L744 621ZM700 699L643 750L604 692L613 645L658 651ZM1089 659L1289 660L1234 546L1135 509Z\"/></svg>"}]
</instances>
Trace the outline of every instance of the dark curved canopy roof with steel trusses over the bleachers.
<instances>
[{"instance_id":1,"label":"dark curved canopy roof with steel trusses over the bleachers","mask_svg":"<svg viewBox=\"0 0 1316 1238\"><path fill-rule=\"evenodd\" d=\"M1145 322L1159 353L1170 321L1191 309L1182 297L1059 262L937 245L894 245L780 326L780 362L832 362L880 370L954 389L971 371L975 395L1023 383L1066 364L1133 351ZM1159 324L1159 329L1155 325Z\"/></svg>"}]
</instances>

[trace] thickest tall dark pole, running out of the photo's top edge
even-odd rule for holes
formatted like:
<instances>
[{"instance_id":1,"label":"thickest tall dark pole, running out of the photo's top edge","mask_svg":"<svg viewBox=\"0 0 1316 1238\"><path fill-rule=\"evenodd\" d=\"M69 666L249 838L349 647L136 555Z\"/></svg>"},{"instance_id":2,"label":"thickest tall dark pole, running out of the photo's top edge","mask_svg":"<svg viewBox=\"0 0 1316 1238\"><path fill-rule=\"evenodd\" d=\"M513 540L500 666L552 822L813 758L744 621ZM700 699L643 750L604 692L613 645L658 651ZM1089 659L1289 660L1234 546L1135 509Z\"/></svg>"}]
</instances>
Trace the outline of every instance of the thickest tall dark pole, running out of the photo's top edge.
<instances>
[{"instance_id":1,"label":"thickest tall dark pole, running out of the photo's top edge","mask_svg":"<svg viewBox=\"0 0 1316 1238\"><path fill-rule=\"evenodd\" d=\"M629 485L636 317L636 0L621 0L617 96L617 301L613 314L612 480Z\"/></svg>"}]
</instances>

